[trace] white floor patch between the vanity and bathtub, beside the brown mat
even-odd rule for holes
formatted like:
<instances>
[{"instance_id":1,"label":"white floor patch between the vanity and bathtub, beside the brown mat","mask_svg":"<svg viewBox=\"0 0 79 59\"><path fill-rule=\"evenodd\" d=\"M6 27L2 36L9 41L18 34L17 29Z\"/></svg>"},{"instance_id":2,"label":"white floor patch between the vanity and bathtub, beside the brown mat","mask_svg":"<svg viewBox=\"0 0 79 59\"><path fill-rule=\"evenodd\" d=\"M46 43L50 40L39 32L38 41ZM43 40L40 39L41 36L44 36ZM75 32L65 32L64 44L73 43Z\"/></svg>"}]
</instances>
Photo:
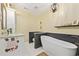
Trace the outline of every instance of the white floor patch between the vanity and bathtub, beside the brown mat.
<instances>
[{"instance_id":1,"label":"white floor patch between the vanity and bathtub, beside the brown mat","mask_svg":"<svg viewBox=\"0 0 79 59\"><path fill-rule=\"evenodd\" d=\"M36 56L39 53L43 52L44 50L42 47L35 49L34 43L30 43L30 44L27 43L27 51L28 51L28 56Z\"/></svg>"}]
</instances>

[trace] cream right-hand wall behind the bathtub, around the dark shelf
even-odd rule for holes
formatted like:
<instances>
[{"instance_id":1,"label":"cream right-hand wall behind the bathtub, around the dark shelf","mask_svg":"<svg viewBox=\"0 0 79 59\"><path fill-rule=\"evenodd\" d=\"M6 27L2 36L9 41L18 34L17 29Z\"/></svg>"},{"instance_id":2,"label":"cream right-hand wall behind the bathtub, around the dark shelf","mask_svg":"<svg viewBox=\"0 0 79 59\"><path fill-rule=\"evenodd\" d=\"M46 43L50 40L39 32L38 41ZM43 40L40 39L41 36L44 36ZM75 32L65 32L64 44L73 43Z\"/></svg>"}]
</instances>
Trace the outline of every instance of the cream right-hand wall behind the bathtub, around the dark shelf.
<instances>
[{"instance_id":1,"label":"cream right-hand wall behind the bathtub, around the dark shelf","mask_svg":"<svg viewBox=\"0 0 79 59\"><path fill-rule=\"evenodd\" d=\"M42 30L44 32L57 32L66 34L79 35L79 27L55 28L55 25L70 23L74 19L78 19L79 4L60 4L61 7L56 13L52 13L49 9L39 17L42 21ZM63 5L63 6L62 6Z\"/></svg>"}]
</instances>

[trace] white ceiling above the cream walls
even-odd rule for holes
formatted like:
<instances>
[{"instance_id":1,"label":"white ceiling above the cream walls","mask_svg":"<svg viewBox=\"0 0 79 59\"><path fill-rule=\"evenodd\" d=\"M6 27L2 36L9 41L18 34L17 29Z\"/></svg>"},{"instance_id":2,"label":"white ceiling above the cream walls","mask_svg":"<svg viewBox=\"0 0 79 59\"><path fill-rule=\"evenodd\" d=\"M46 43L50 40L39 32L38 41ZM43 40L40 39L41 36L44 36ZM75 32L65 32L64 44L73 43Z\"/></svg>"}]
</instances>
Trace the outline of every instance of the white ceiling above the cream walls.
<instances>
[{"instance_id":1,"label":"white ceiling above the cream walls","mask_svg":"<svg viewBox=\"0 0 79 59\"><path fill-rule=\"evenodd\" d=\"M16 8L31 11L33 14L38 14L48 10L52 3L17 3Z\"/></svg>"}]
</instances>

